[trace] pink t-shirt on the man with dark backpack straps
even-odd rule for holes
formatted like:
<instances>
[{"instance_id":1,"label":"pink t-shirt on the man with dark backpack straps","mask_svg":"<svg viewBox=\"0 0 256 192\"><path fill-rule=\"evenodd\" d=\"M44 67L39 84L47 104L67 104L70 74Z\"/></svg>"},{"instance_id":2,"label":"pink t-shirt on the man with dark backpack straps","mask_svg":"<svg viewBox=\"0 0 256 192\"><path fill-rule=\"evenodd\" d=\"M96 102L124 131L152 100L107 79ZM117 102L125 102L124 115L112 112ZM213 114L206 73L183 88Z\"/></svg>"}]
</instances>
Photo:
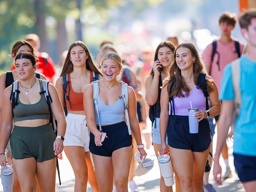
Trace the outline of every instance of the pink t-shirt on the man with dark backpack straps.
<instances>
[{"instance_id":1,"label":"pink t-shirt on the man with dark backpack straps","mask_svg":"<svg viewBox=\"0 0 256 192\"><path fill-rule=\"evenodd\" d=\"M239 44L240 44L240 53L242 55L242 50L244 48L244 45L242 45L241 43ZM212 51L213 51L213 46L211 43L206 47L206 49L202 54L202 60L206 65L207 69L210 69ZM216 83L218 90L220 90L220 84L221 84L224 67L237 58L238 58L238 53L236 52L234 39L232 39L232 41L229 43L222 43L220 42L220 39L217 40L217 47L213 57L210 76L213 78L214 82ZM219 59L219 66L217 64L218 59Z\"/></svg>"}]
</instances>

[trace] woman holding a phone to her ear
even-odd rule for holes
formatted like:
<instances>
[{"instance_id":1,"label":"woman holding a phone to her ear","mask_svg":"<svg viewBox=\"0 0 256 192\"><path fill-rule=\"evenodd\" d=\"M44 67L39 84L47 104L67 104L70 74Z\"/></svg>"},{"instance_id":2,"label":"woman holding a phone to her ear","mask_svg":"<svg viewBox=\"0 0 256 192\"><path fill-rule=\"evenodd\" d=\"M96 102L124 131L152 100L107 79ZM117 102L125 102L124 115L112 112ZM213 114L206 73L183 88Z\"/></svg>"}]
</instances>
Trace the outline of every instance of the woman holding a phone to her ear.
<instances>
[{"instance_id":1,"label":"woman holding a phone to her ear","mask_svg":"<svg viewBox=\"0 0 256 192\"><path fill-rule=\"evenodd\" d=\"M150 76L146 79L146 102L153 107L151 116L154 117L152 122L152 143L155 150L155 155L158 158L158 151L160 149L161 137L159 130L159 118L160 118L160 96L162 81L167 77L167 71L173 62L173 54L175 51L175 45L170 41L165 41L159 44L156 48L155 59L153 67L150 71ZM151 110L150 110L151 111ZM150 116L150 114L149 114ZM166 145L168 145L168 139L166 137ZM167 149L169 152L169 150ZM175 171L175 170L174 170ZM175 171L176 192L180 192L180 182ZM167 192L172 191L172 186L167 187L164 183L164 177L160 175L160 191Z\"/></svg>"}]
</instances>

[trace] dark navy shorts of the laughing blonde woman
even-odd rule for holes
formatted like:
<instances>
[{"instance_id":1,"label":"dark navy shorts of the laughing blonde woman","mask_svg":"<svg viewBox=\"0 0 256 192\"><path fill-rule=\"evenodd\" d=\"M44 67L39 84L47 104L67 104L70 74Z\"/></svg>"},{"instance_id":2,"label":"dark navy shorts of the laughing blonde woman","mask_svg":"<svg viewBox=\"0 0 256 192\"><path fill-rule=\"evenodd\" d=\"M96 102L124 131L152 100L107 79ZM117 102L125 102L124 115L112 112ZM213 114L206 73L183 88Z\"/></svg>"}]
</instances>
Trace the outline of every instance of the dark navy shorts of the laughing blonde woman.
<instances>
[{"instance_id":1,"label":"dark navy shorts of the laughing blonde woman","mask_svg":"<svg viewBox=\"0 0 256 192\"><path fill-rule=\"evenodd\" d=\"M97 126L98 130L100 127ZM102 132L107 133L107 138L101 146L95 145L94 134L90 133L89 150L92 154L111 157L113 151L132 145L132 135L124 121L108 126L101 126Z\"/></svg>"}]
</instances>

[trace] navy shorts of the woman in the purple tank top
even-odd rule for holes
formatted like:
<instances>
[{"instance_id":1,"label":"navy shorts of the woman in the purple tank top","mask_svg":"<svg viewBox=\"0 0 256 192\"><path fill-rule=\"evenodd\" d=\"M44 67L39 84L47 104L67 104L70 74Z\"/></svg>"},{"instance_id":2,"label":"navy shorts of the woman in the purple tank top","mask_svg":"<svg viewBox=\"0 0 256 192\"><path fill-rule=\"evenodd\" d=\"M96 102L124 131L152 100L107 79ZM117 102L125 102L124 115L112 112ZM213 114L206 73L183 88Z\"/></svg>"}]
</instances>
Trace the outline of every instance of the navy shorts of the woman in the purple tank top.
<instances>
[{"instance_id":1,"label":"navy shorts of the woman in the purple tank top","mask_svg":"<svg viewBox=\"0 0 256 192\"><path fill-rule=\"evenodd\" d=\"M198 133L189 132L188 116L170 116L167 137L168 144L172 148L187 149L193 152L203 152L207 150L212 142L210 137L210 125L208 119L199 122Z\"/></svg>"}]
</instances>

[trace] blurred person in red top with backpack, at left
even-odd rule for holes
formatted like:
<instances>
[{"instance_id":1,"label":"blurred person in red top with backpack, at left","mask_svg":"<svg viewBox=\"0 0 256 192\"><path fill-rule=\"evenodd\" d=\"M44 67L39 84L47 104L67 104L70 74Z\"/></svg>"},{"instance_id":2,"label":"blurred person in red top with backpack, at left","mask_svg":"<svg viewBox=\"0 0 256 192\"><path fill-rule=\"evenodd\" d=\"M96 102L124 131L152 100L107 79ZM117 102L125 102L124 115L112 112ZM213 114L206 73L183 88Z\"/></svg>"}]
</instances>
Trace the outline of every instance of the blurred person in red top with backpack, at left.
<instances>
[{"instance_id":1,"label":"blurred person in red top with backpack, at left","mask_svg":"<svg viewBox=\"0 0 256 192\"><path fill-rule=\"evenodd\" d=\"M53 83L53 75L55 74L55 65L53 60L49 57L46 52L39 52L40 49L40 39L34 34L28 34L25 37L26 41L30 42L35 49L35 54L37 55L37 71L46 76L46 78Z\"/></svg>"}]
</instances>

